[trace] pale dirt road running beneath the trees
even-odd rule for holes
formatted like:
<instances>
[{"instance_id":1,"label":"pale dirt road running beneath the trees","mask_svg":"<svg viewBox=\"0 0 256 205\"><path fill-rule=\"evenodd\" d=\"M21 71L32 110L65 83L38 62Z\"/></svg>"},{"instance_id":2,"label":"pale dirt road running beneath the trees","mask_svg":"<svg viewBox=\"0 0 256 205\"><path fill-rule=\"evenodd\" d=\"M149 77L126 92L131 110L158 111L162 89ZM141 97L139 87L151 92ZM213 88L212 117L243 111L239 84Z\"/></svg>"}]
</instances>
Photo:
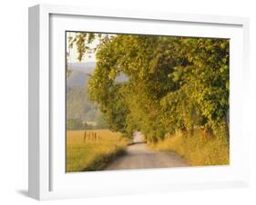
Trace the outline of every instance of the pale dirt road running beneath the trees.
<instances>
[{"instance_id":1,"label":"pale dirt road running beneath the trees","mask_svg":"<svg viewBox=\"0 0 256 205\"><path fill-rule=\"evenodd\" d=\"M189 166L175 153L150 150L147 144L143 142L140 132L135 133L133 142L132 145L128 146L127 154L109 164L106 170Z\"/></svg>"}]
</instances>

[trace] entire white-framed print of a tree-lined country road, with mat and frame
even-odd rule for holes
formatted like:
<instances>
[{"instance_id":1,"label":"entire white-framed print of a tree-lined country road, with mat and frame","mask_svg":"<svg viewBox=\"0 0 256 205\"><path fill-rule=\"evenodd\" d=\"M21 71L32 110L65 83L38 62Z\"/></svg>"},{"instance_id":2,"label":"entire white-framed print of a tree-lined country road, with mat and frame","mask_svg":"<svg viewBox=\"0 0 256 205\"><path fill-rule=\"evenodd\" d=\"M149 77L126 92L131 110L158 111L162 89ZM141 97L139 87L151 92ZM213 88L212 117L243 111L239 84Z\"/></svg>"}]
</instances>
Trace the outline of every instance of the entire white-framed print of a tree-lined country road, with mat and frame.
<instances>
[{"instance_id":1,"label":"entire white-framed print of a tree-lined country road, with mat and frame","mask_svg":"<svg viewBox=\"0 0 256 205\"><path fill-rule=\"evenodd\" d=\"M29 8L29 196L248 184L248 19Z\"/></svg>"}]
</instances>

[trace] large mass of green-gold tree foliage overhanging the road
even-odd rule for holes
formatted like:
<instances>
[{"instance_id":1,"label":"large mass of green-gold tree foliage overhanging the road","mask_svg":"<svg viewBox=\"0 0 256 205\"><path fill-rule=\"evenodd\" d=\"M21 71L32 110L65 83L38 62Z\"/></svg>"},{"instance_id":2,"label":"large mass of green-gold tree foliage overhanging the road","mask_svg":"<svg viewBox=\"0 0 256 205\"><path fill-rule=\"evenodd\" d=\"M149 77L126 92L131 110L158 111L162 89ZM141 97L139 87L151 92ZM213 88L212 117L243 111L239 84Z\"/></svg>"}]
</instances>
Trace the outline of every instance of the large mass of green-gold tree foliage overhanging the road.
<instances>
[{"instance_id":1,"label":"large mass of green-gold tree foliage overhanging the road","mask_svg":"<svg viewBox=\"0 0 256 205\"><path fill-rule=\"evenodd\" d=\"M205 128L228 141L229 46L227 39L108 36L97 47L88 93L112 131L138 130L158 142ZM117 83L120 74L128 81Z\"/></svg>"}]
</instances>

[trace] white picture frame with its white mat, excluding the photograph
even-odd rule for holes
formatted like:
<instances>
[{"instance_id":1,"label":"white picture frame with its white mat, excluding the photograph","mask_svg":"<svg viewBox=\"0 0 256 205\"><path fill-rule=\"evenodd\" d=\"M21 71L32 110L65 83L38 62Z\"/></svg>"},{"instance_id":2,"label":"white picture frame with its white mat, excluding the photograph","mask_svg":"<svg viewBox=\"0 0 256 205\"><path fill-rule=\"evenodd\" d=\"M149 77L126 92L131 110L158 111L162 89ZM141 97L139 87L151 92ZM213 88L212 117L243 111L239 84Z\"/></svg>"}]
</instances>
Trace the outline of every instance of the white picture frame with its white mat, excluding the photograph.
<instances>
[{"instance_id":1,"label":"white picture frame with its white mat, excluding the photograph","mask_svg":"<svg viewBox=\"0 0 256 205\"><path fill-rule=\"evenodd\" d=\"M63 79L55 73L64 58L61 34L81 31L86 21L89 31L134 34L170 34L162 24L171 25L173 35L227 37L230 44L230 165L147 171L96 171L67 174L63 171L62 137L55 137L55 112L63 106ZM77 23L76 23L77 22ZM90 23L91 22L91 23ZM109 26L105 22L108 22ZM125 25L129 25L124 28ZM141 29L143 27L143 31ZM154 25L154 26L152 26ZM68 27L69 26L69 27ZM140 27L140 28L139 28ZM157 31L158 29L158 31ZM29 8L29 173L28 193L37 200L80 198L143 192L241 187L249 184L248 136L242 127L242 88L249 74L249 20L219 15L183 15L112 11L65 5L36 5ZM60 35L59 35L60 34ZM61 51L62 50L62 51ZM57 54L58 53L58 54ZM54 59L53 59L54 56ZM233 61L233 62L232 62ZM236 69L237 68L237 69ZM61 77L62 76L62 77ZM62 84L59 86L59 84ZM60 99L60 101L54 101ZM61 119L60 119L61 120ZM241 126L238 126L238 125ZM60 125L61 127L62 125ZM239 139L239 141L238 141ZM60 145L58 144L60 143ZM62 144L62 145L61 145ZM60 148L57 148L59 145ZM59 163L57 161L60 161ZM62 169L62 170L61 170ZM149 179L149 180L148 180ZM82 185L78 185L82 181ZM86 181L86 183L85 183ZM77 183L77 188L74 185ZM86 184L86 185L85 185Z\"/></svg>"}]
</instances>

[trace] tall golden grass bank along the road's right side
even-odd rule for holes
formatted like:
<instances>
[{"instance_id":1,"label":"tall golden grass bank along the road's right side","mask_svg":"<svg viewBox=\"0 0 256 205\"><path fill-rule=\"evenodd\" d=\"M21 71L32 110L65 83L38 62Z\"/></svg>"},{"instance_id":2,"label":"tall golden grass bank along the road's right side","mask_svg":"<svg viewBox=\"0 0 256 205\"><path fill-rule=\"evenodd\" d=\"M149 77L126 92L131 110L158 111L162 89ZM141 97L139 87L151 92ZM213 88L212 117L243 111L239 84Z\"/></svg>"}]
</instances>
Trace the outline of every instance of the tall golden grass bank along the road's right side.
<instances>
[{"instance_id":1,"label":"tall golden grass bank along the road's right side","mask_svg":"<svg viewBox=\"0 0 256 205\"><path fill-rule=\"evenodd\" d=\"M191 166L230 164L228 142L203 131L196 131L192 135L176 132L151 146L159 151L175 151Z\"/></svg>"}]
</instances>

